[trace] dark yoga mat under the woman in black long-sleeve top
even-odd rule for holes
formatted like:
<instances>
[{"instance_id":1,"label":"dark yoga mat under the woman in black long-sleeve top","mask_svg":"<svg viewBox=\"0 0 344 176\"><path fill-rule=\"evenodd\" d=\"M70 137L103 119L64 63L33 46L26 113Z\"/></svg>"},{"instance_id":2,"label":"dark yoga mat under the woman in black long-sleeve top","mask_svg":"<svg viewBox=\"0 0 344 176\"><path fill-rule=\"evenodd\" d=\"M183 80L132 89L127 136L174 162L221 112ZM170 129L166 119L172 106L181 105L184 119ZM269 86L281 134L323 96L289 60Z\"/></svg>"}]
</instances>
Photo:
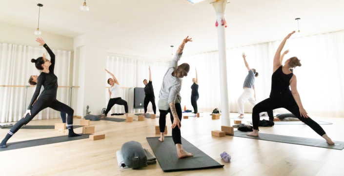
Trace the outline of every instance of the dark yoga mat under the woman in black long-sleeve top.
<instances>
[{"instance_id":1,"label":"dark yoga mat under the woman in black long-sleeve top","mask_svg":"<svg viewBox=\"0 0 344 176\"><path fill-rule=\"evenodd\" d=\"M48 137L48 138L41 138L41 139L34 139L34 140L12 142L12 143L7 143L7 148L0 149L0 152L7 151L7 150L21 149L21 148L26 148L26 147L35 147L35 146L46 145L46 144L54 144L54 143L72 141L72 140L85 139L89 137L90 137L90 134L81 135L80 137L68 137L68 135L65 135L61 137Z\"/></svg>"}]
</instances>

